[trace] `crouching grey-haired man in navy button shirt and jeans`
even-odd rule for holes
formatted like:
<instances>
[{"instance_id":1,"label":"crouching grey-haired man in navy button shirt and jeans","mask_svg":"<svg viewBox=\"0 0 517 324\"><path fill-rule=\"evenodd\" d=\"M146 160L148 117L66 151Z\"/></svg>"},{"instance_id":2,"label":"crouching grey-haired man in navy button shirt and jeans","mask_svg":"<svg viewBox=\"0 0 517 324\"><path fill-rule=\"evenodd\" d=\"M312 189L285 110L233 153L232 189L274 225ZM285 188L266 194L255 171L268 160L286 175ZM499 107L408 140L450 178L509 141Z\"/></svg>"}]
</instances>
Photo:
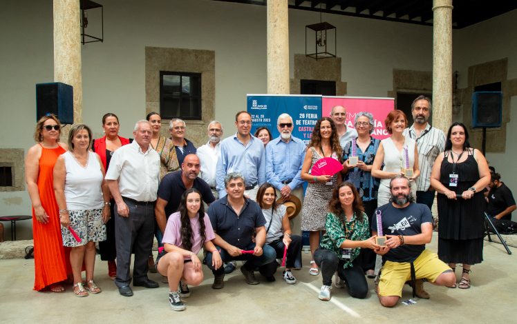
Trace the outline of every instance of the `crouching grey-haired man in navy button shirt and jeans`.
<instances>
[{"instance_id":1,"label":"crouching grey-haired man in navy button shirt and jeans","mask_svg":"<svg viewBox=\"0 0 517 324\"><path fill-rule=\"evenodd\" d=\"M272 262L276 252L270 245L264 245L265 219L259 204L244 196L243 176L238 172L227 174L225 188L227 196L208 208L208 216L216 233L213 242L223 262L246 261L241 272L249 285L256 285L259 281L255 279L254 268ZM206 264L214 273L212 288L223 288L225 270L212 265L212 252L207 253Z\"/></svg>"}]
</instances>

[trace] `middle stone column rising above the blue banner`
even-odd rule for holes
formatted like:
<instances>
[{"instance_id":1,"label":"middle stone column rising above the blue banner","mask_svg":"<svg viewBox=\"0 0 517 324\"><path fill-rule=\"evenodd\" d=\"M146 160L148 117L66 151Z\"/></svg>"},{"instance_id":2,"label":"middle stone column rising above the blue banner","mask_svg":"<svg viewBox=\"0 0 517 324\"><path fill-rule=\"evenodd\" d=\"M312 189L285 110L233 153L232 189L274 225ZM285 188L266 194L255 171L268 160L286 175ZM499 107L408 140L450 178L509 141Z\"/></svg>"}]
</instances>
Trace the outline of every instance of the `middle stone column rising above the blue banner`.
<instances>
[{"instance_id":1,"label":"middle stone column rising above the blue banner","mask_svg":"<svg viewBox=\"0 0 517 324\"><path fill-rule=\"evenodd\" d=\"M288 0L267 1L267 93L289 94Z\"/></svg>"}]
</instances>

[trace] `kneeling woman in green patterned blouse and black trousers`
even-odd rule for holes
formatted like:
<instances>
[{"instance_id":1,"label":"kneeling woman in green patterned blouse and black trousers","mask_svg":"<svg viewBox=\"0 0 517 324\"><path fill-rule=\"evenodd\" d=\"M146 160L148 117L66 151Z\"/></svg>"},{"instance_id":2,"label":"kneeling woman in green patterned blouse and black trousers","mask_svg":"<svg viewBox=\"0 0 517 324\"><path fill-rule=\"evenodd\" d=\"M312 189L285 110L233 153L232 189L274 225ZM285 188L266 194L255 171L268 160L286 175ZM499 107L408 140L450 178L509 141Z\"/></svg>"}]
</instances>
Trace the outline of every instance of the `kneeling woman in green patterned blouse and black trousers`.
<instances>
[{"instance_id":1,"label":"kneeling woman in green patterned blouse and black trousers","mask_svg":"<svg viewBox=\"0 0 517 324\"><path fill-rule=\"evenodd\" d=\"M323 234L319 249L314 252L314 261L321 267L323 276L319 299L330 300L332 274L336 270L336 287L346 285L350 296L364 298L368 292L368 283L357 256L361 247L373 250L379 245L375 244L375 236L368 238L368 217L352 183L341 183L332 192L328 211L326 233Z\"/></svg>"}]
</instances>

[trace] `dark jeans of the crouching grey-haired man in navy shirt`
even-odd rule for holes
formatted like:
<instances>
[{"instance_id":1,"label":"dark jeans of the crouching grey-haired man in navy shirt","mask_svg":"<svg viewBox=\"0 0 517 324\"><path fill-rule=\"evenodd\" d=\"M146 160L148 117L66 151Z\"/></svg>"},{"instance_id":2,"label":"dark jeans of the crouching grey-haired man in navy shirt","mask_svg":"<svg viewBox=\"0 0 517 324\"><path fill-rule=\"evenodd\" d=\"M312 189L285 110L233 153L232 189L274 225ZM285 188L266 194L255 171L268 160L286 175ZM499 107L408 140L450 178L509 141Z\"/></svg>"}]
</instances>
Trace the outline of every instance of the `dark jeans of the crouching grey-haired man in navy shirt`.
<instances>
[{"instance_id":1,"label":"dark jeans of the crouching grey-haired man in navy shirt","mask_svg":"<svg viewBox=\"0 0 517 324\"><path fill-rule=\"evenodd\" d=\"M243 247L242 250L254 250L254 248L255 243L250 243L249 245ZM261 265L271 263L274 261L274 259L276 259L276 252L274 248L270 247L270 245L267 244L265 244L262 247L261 256L254 256L253 254L241 254L239 256L231 256L222 247L218 247L216 245L216 249L219 250L220 259L223 260L223 263L227 263L228 261L234 260L246 261L243 267L250 271L253 271L255 267L260 267ZM207 252L207 256L205 257L205 264L207 265L207 267L209 267L210 270L212 270L214 276L225 273L225 267L221 266L217 270L214 269L214 266L212 265L212 252Z\"/></svg>"}]
</instances>

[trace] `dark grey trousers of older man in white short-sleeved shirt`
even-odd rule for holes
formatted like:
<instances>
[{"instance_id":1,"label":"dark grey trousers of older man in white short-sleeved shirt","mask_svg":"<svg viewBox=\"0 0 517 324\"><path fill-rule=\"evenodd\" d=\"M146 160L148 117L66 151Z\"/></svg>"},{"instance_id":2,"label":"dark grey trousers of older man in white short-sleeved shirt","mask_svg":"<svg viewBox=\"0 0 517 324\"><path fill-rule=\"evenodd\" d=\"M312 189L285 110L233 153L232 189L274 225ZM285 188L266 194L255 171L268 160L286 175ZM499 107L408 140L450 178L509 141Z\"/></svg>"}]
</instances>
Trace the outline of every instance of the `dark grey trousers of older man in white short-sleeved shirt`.
<instances>
[{"instance_id":1,"label":"dark grey trousers of older man in white short-sleeved shirt","mask_svg":"<svg viewBox=\"0 0 517 324\"><path fill-rule=\"evenodd\" d=\"M117 246L117 277L115 285L124 287L131 283L129 274L131 252L135 254L133 279L147 280L147 259L153 247L154 203L136 203L124 198L129 207L129 217L122 217L115 205L115 244Z\"/></svg>"}]
</instances>

